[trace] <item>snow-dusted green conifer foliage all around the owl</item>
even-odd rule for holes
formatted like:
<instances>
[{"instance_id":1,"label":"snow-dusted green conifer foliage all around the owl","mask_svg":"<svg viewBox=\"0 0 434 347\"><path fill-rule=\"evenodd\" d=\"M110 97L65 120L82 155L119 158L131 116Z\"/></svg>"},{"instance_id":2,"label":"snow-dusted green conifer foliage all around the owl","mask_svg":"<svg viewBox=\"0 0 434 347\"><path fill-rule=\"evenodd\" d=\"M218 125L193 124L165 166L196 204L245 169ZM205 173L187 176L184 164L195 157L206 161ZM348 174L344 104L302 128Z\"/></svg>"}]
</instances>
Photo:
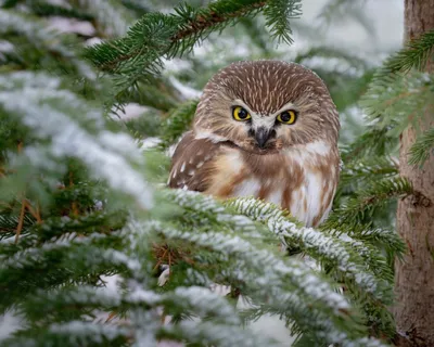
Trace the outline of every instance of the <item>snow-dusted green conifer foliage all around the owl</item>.
<instances>
[{"instance_id":1,"label":"snow-dusted green conifer foliage all around the owl","mask_svg":"<svg viewBox=\"0 0 434 347\"><path fill-rule=\"evenodd\" d=\"M164 188L166 150L197 104L163 74L165 63L208 74L214 66L189 54L233 25L289 44L302 1L218 0L169 14L143 3L0 1L0 316L20 322L0 346L280 346L244 326L266 313L283 319L298 346L386 346L395 333L391 261L405 252L394 203L412 193L397 175L401 119L387 100L410 89L403 119L434 100L431 76L403 75L429 59L433 36L376 74L324 47L295 59L359 69L357 78L318 70L342 112L371 83L362 102L372 123L342 143L334 213L316 230L272 204ZM60 18L93 29L60 33ZM104 40L89 47L94 36ZM343 81L353 89L341 94ZM130 103L142 115L117 117ZM141 149L150 137L158 145ZM422 165L433 142L431 130L422 134L412 163ZM215 293L216 283L230 293ZM240 295L248 309L235 308Z\"/></svg>"}]
</instances>

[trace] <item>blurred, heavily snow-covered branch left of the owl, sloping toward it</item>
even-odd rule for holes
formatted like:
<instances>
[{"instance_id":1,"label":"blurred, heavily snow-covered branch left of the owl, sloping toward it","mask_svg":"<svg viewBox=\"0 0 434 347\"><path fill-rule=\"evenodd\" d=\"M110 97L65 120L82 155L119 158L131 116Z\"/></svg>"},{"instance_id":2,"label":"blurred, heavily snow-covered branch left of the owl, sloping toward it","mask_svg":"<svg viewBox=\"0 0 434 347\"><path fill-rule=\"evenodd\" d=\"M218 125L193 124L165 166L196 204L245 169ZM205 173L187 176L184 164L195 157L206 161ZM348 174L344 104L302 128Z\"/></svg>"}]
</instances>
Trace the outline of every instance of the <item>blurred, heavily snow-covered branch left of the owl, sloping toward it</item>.
<instances>
[{"instance_id":1,"label":"blurred, heavily snow-covered branch left of the owl, sloping toward it","mask_svg":"<svg viewBox=\"0 0 434 347\"><path fill-rule=\"evenodd\" d=\"M34 169L37 163L44 168L53 157L76 157L115 190L128 191L140 206L151 205L150 188L133 168L139 165L140 155L132 139L106 131L102 113L82 98L62 89L60 79L31 73L1 76L1 110L20 117L22 124L51 143L49 150L36 146L22 154L22 160L34 163ZM36 159L33 151L39 152L40 162L31 160ZM125 176L113 175L113 170L123 170Z\"/></svg>"}]
</instances>

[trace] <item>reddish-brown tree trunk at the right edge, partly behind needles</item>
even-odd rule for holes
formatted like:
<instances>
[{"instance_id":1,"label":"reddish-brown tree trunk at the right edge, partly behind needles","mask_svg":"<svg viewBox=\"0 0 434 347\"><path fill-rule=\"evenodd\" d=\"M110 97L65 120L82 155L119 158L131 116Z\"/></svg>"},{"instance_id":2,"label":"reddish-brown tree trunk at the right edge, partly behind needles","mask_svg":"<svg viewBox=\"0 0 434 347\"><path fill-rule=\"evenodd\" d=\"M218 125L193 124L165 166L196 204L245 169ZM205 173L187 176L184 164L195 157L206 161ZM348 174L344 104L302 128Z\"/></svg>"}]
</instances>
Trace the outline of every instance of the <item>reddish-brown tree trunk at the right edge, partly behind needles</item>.
<instances>
[{"instance_id":1,"label":"reddish-brown tree trunk at the right edge, partly behind needles","mask_svg":"<svg viewBox=\"0 0 434 347\"><path fill-rule=\"evenodd\" d=\"M434 0L405 0L406 40L434 29ZM434 62L425 68L434 73ZM420 121L421 131L434 126L434 113L427 111ZM419 133L418 133L419 134ZM397 346L434 346L434 156L422 168L407 164L408 151L417 132L408 128L400 138L400 175L412 184L416 194L398 203L397 228L408 246L404 261L396 261L394 314L398 330Z\"/></svg>"}]
</instances>

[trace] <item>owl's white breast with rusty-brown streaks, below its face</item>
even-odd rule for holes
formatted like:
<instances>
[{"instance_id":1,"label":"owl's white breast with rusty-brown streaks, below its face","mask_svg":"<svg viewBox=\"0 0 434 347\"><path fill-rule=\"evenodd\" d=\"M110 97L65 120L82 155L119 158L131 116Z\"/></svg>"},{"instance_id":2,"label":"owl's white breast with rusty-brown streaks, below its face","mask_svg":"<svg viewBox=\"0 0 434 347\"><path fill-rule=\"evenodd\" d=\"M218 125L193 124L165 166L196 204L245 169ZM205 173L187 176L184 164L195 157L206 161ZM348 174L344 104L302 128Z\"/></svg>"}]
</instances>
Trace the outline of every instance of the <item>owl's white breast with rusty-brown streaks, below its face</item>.
<instances>
[{"instance_id":1,"label":"owl's white breast with rusty-brown streaks, below its face","mask_svg":"<svg viewBox=\"0 0 434 347\"><path fill-rule=\"evenodd\" d=\"M288 209L306 226L318 226L331 210L339 180L337 149L329 149L307 145L269 155L228 149L214 162L206 193L255 196Z\"/></svg>"}]
</instances>

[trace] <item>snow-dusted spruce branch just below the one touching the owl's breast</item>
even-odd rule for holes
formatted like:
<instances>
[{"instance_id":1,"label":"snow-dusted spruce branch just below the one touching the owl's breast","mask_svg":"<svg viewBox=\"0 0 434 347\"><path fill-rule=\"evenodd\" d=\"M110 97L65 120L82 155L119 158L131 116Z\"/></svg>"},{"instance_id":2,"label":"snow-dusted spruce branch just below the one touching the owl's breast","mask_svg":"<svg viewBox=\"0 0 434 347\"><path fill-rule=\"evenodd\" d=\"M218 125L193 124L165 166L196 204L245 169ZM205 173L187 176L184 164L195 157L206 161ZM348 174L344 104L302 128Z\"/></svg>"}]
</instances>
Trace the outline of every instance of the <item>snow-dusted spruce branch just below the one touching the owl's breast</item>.
<instances>
[{"instance_id":1,"label":"snow-dusted spruce branch just below the one touching the owl's breast","mask_svg":"<svg viewBox=\"0 0 434 347\"><path fill-rule=\"evenodd\" d=\"M304 330L312 331L319 339L326 338L332 343L335 337L330 334L330 331L340 329L339 326L342 326L342 324L346 325L350 323L346 320L349 317L347 316L348 308L344 308L346 306L345 301L336 303L335 300L340 300L340 298L335 297L336 293L329 285L324 285L324 282L318 286L319 279L303 262L294 260L288 261L286 265L270 252L256 249L248 242L233 235L225 235L224 233L216 232L192 233L176 230L156 222L146 228L151 228L151 231L163 234L168 239L184 240L193 243L196 247L210 248L213 252L226 255L226 257L229 256L232 266L226 271L228 275L230 274L234 279L240 279L247 284L247 288L250 288L247 295L253 298L260 298L259 303L266 300L270 307L282 308L284 306L289 316L301 324ZM255 274L252 277L247 272L241 273L240 269L242 268L254 269L251 273ZM260 285L263 281L266 281L267 288ZM296 290L286 292L288 290L284 288L288 285L291 287L295 286ZM302 299L305 296L306 299ZM307 299L309 297L310 301L316 304L314 307L310 306L307 308L305 303L306 300L309 301ZM336 309L336 305L343 310L340 311ZM334 308L332 308L333 306ZM308 311L308 314L311 314L309 320L306 319ZM324 314L326 312L328 313ZM344 331L341 330L343 334L345 334ZM346 338L352 339L350 336Z\"/></svg>"}]
</instances>

